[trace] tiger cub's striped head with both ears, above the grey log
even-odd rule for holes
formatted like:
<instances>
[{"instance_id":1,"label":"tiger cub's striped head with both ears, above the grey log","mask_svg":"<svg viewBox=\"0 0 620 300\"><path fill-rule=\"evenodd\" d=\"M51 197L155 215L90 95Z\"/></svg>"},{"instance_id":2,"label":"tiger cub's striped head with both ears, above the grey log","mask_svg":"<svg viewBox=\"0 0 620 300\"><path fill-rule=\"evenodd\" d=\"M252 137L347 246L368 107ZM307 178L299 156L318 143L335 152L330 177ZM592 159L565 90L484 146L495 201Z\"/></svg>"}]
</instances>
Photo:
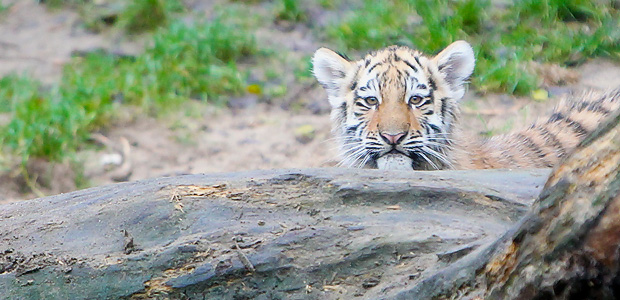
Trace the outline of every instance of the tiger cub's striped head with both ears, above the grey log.
<instances>
[{"instance_id":1,"label":"tiger cub's striped head with both ears, above the grey log","mask_svg":"<svg viewBox=\"0 0 620 300\"><path fill-rule=\"evenodd\" d=\"M327 91L341 165L448 169L457 102L474 70L464 41L435 57L391 46L352 61L321 48L314 75Z\"/></svg>"}]
</instances>

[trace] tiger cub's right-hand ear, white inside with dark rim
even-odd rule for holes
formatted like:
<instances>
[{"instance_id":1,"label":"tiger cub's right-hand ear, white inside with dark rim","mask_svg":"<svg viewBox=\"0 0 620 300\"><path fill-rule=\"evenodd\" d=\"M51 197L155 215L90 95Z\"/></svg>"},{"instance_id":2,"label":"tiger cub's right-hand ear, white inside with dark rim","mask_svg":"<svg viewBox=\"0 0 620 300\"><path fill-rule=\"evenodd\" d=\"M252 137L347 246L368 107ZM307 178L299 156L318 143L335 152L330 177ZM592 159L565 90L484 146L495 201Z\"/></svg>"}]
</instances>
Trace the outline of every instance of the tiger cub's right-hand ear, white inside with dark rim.
<instances>
[{"instance_id":1,"label":"tiger cub's right-hand ear, white inside with dark rim","mask_svg":"<svg viewBox=\"0 0 620 300\"><path fill-rule=\"evenodd\" d=\"M466 41L456 41L450 44L433 58L437 70L455 92L456 98L465 94L463 85L474 72L476 58L474 50Z\"/></svg>"}]
</instances>

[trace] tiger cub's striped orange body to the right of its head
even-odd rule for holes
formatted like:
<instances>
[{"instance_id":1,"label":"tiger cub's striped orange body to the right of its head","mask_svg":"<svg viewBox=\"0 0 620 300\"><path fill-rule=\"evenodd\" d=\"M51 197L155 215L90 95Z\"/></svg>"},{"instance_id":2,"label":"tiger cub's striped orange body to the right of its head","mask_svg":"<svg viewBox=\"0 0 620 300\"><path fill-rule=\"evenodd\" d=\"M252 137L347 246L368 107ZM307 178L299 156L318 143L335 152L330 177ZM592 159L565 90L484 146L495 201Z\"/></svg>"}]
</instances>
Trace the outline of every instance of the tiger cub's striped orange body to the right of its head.
<instances>
[{"instance_id":1,"label":"tiger cub's striped orange body to the right of its head","mask_svg":"<svg viewBox=\"0 0 620 300\"><path fill-rule=\"evenodd\" d=\"M544 168L556 165L620 108L620 89L563 99L551 116L529 128L482 141L461 138L460 169Z\"/></svg>"}]
</instances>

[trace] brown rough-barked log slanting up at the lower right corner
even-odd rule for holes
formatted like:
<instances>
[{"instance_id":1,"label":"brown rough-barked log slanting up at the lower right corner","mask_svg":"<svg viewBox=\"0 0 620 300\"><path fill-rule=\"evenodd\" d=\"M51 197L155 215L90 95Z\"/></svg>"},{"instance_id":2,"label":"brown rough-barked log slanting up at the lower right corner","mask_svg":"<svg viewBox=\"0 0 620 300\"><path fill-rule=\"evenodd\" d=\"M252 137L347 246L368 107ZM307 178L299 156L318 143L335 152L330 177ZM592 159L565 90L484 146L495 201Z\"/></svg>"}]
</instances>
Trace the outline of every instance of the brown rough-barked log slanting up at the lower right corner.
<instances>
[{"instance_id":1,"label":"brown rough-barked log slanting up at the lower right corner","mask_svg":"<svg viewBox=\"0 0 620 300\"><path fill-rule=\"evenodd\" d=\"M620 114L555 168L519 226L400 299L619 299Z\"/></svg>"}]
</instances>

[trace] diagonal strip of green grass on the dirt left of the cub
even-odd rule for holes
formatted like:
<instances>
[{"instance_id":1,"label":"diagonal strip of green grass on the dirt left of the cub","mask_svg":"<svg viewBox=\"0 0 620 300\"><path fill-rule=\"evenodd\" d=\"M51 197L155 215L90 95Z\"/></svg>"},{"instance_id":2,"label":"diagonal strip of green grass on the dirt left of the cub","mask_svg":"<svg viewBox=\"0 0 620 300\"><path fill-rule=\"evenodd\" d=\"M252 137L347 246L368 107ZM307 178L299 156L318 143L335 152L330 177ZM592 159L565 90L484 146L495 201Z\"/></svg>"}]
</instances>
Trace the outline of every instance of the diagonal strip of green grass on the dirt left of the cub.
<instances>
[{"instance_id":1,"label":"diagonal strip of green grass on the dirt left of the cub","mask_svg":"<svg viewBox=\"0 0 620 300\"><path fill-rule=\"evenodd\" d=\"M95 52L65 66L60 83L43 89L27 77L0 79L0 145L25 164L32 157L62 161L105 127L120 105L149 114L188 99L222 103L221 95L242 93L245 75L235 65L257 52L244 28L218 19L160 29L137 57Z\"/></svg>"}]
</instances>

